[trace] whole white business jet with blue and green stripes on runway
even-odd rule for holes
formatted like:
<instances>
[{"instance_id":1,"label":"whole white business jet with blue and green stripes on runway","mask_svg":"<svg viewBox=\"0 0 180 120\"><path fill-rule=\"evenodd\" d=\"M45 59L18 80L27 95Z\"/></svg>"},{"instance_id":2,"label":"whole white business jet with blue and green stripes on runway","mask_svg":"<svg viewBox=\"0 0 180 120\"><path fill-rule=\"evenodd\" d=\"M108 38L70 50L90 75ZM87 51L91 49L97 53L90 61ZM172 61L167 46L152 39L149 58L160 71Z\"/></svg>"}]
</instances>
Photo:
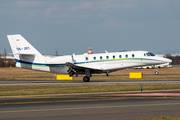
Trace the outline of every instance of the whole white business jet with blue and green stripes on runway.
<instances>
[{"instance_id":1,"label":"whole white business jet with blue and green stripes on runway","mask_svg":"<svg viewBox=\"0 0 180 120\"><path fill-rule=\"evenodd\" d=\"M89 82L92 74L121 69L170 63L172 60L155 56L149 51L107 52L99 54L64 55L47 57L38 52L21 35L7 35L16 60L16 67L52 73L85 74L83 81ZM158 74L158 71L156 71Z\"/></svg>"}]
</instances>

